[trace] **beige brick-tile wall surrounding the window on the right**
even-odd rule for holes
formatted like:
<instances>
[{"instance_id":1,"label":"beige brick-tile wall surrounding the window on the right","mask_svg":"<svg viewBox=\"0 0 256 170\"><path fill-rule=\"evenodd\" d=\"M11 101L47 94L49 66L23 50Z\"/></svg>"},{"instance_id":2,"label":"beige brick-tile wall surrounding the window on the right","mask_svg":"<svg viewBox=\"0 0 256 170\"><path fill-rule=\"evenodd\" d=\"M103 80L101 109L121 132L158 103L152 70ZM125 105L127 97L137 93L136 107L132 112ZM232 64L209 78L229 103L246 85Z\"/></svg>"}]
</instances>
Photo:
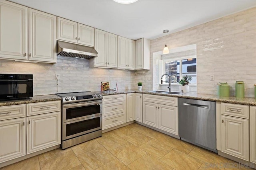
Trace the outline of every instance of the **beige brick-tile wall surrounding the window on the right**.
<instances>
[{"instance_id":1,"label":"beige brick-tile wall surrounding the window on the right","mask_svg":"<svg viewBox=\"0 0 256 170\"><path fill-rule=\"evenodd\" d=\"M197 45L198 93L217 94L216 84L228 82L230 95L235 96L236 80L244 80L245 96L254 97L256 7L151 40L151 69L135 79L136 82L142 80L145 89L157 87L153 76L153 53L162 51L165 41L169 49ZM210 81L211 75L214 81ZM148 76L150 80L145 78Z\"/></svg>"}]
</instances>

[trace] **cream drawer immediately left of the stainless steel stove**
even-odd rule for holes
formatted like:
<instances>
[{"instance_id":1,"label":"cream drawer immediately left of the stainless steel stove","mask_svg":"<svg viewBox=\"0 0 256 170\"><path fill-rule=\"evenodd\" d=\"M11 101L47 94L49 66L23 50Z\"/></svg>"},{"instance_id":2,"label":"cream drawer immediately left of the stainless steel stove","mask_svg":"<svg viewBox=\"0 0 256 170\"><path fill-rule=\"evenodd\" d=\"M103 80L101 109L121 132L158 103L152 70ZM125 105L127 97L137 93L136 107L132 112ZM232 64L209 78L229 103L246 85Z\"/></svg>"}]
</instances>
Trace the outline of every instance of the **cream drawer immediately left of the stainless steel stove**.
<instances>
[{"instance_id":1,"label":"cream drawer immediately left of the stainless steel stove","mask_svg":"<svg viewBox=\"0 0 256 170\"><path fill-rule=\"evenodd\" d=\"M39 102L27 104L28 116L38 115L42 113L50 113L54 111L61 111L61 102L51 101L51 102Z\"/></svg>"}]
</instances>

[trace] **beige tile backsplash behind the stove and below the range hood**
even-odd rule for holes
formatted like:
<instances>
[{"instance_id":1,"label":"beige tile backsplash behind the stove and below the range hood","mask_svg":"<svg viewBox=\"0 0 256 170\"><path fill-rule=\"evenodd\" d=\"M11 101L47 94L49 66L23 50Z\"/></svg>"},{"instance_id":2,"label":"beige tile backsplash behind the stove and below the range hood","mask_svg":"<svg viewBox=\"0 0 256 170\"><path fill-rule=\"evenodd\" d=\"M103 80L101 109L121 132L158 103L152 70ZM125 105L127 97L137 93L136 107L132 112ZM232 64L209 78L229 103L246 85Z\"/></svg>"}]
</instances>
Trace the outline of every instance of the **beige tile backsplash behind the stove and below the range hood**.
<instances>
[{"instance_id":1,"label":"beige tile backsplash behind the stove and below the range hood","mask_svg":"<svg viewBox=\"0 0 256 170\"><path fill-rule=\"evenodd\" d=\"M57 57L56 64L0 61L0 73L33 74L34 95L100 91L101 81L118 83L118 89L135 87L134 71L90 68L86 59ZM59 89L55 74L60 74Z\"/></svg>"}]
</instances>

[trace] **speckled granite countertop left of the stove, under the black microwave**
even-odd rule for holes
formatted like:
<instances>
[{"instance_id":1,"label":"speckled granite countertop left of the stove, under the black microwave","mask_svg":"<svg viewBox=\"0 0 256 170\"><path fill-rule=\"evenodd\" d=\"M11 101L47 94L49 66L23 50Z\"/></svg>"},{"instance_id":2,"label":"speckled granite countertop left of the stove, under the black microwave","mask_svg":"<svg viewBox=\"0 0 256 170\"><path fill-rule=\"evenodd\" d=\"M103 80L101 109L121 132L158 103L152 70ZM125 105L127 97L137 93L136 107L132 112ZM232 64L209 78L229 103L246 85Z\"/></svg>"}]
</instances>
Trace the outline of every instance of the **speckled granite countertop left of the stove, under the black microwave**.
<instances>
[{"instance_id":1,"label":"speckled granite countertop left of the stove, under the black microwave","mask_svg":"<svg viewBox=\"0 0 256 170\"><path fill-rule=\"evenodd\" d=\"M50 95L33 96L32 98L23 99L23 100L1 101L0 106L10 106L10 105L16 105L16 104L28 104L28 103L36 103L36 102L48 102L48 101L55 101L55 100L61 100L61 98L55 94L50 94Z\"/></svg>"}]
</instances>

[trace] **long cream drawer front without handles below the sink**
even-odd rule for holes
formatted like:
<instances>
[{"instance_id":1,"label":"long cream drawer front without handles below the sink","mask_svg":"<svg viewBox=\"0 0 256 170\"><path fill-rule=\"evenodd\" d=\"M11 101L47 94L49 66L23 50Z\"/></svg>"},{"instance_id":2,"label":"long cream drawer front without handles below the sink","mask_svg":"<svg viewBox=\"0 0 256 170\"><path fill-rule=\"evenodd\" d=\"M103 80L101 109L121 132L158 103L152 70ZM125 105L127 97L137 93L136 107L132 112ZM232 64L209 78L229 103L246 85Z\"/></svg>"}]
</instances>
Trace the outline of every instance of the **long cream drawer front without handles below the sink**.
<instances>
[{"instance_id":1,"label":"long cream drawer front without handles below the sink","mask_svg":"<svg viewBox=\"0 0 256 170\"><path fill-rule=\"evenodd\" d=\"M169 96L158 96L153 94L143 94L143 102L154 102L171 106L178 106L178 98Z\"/></svg>"}]
</instances>

